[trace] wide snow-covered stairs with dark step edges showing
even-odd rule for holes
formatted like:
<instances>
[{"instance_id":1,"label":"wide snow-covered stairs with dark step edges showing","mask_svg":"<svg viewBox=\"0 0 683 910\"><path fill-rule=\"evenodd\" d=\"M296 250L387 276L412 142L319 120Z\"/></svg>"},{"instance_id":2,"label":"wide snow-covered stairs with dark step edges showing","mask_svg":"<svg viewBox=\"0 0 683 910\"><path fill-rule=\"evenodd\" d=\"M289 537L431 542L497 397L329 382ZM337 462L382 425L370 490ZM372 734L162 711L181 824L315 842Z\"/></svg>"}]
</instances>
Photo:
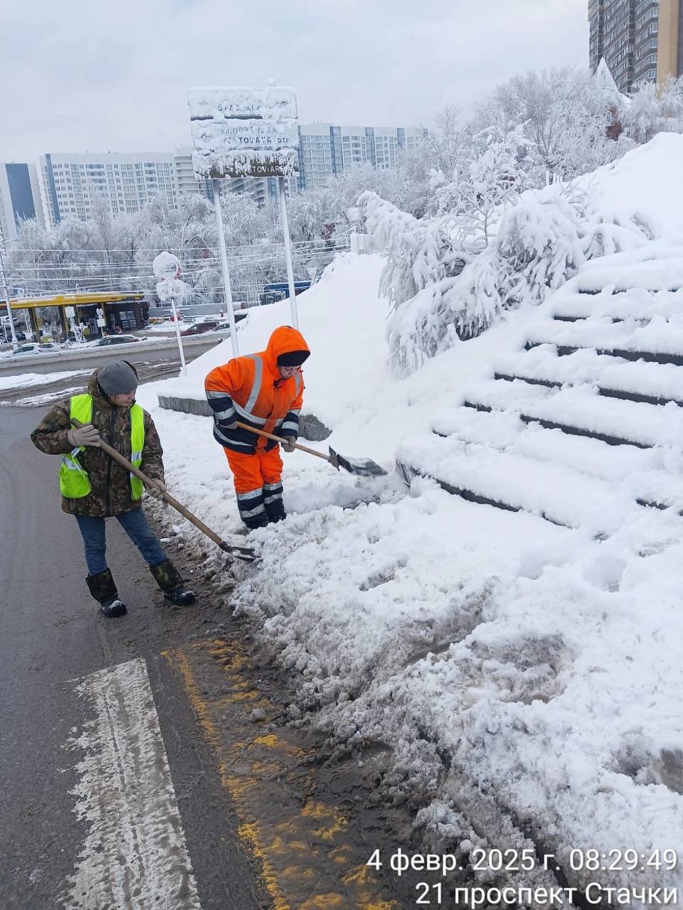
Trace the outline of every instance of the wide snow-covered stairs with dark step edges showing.
<instances>
[{"instance_id":1,"label":"wide snow-covered stairs with dark step edges showing","mask_svg":"<svg viewBox=\"0 0 683 910\"><path fill-rule=\"evenodd\" d=\"M681 250L664 265L627 264L617 282L614 269L581 273L431 439L403 444L404 476L598 537L646 513L683 514L683 470L671 470L683 443L682 288Z\"/></svg>"}]
</instances>

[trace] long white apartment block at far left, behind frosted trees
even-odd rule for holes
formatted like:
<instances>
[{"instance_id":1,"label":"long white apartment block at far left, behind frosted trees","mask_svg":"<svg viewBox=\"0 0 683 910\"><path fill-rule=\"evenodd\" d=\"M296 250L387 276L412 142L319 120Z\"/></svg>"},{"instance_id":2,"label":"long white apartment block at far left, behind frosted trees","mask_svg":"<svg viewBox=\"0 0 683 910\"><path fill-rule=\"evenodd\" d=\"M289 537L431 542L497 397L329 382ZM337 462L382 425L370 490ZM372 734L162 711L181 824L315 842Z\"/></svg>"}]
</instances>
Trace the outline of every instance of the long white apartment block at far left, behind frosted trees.
<instances>
[{"instance_id":1,"label":"long white apartment block at far left, behind frosted trees","mask_svg":"<svg viewBox=\"0 0 683 910\"><path fill-rule=\"evenodd\" d=\"M39 167L51 227L65 217L87 221L97 195L107 199L115 217L137 212L158 194L171 204L178 198L175 158L170 153L49 154L40 157Z\"/></svg>"}]
</instances>

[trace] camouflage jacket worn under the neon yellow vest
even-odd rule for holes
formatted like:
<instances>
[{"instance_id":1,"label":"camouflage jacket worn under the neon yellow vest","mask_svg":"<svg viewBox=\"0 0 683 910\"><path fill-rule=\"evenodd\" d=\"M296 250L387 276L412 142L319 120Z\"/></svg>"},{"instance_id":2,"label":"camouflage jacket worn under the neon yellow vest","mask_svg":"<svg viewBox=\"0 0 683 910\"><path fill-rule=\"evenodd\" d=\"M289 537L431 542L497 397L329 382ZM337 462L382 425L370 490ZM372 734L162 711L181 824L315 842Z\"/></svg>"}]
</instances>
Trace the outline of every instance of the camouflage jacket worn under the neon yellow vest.
<instances>
[{"instance_id":1,"label":"camouflage jacket worn under the neon yellow vest","mask_svg":"<svg viewBox=\"0 0 683 910\"><path fill-rule=\"evenodd\" d=\"M130 460L130 410L115 408L97 385L97 370L87 383L87 393L93 396L93 424L99 435L110 446ZM31 441L37 449L48 455L62 455L72 447L66 439L71 429L69 422L69 399L60 401L31 433ZM164 480L164 465L161 443L154 420L145 411L145 447L142 450L143 470L148 477ZM139 500L130 495L130 475L110 455L96 446L86 446L78 459L87 471L92 490L79 500L62 497L62 509L70 515L89 515L93 518L109 518L122 512L138 509ZM55 471L55 483L57 483Z\"/></svg>"}]
</instances>

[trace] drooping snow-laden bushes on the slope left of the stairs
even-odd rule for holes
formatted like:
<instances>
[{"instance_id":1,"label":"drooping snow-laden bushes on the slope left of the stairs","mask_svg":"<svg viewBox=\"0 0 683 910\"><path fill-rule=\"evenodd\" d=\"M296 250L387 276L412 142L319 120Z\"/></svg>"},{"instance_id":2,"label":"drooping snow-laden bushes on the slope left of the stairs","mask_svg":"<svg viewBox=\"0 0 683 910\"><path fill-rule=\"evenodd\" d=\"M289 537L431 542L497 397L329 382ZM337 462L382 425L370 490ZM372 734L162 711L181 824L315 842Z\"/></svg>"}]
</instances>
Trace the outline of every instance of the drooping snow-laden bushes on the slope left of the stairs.
<instances>
[{"instance_id":1,"label":"drooping snow-laden bushes on the slope left of the stairs","mask_svg":"<svg viewBox=\"0 0 683 910\"><path fill-rule=\"evenodd\" d=\"M397 376L480 335L505 309L543 302L586 259L652 238L642 218L586 212L585 197L561 185L516 200L474 256L457 218L416 219L375 194L361 202L387 260L380 291L392 308L387 339Z\"/></svg>"}]
</instances>

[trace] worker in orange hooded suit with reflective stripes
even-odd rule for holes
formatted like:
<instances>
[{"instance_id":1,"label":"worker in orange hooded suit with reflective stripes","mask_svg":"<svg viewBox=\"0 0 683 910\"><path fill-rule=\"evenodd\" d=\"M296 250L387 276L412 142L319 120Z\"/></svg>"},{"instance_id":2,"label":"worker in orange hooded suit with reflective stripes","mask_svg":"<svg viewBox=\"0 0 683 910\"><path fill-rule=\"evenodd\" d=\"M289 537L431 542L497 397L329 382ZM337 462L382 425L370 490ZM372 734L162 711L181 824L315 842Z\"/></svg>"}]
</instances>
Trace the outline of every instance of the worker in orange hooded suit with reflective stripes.
<instances>
[{"instance_id":1,"label":"worker in orange hooded suit with reflective stripes","mask_svg":"<svg viewBox=\"0 0 683 910\"><path fill-rule=\"evenodd\" d=\"M242 430L237 421L279 436L282 448L293 451L303 399L301 364L310 355L300 331L280 326L265 350L229 360L205 380L213 436L228 457L240 518L250 530L286 518L282 459L280 443Z\"/></svg>"}]
</instances>

